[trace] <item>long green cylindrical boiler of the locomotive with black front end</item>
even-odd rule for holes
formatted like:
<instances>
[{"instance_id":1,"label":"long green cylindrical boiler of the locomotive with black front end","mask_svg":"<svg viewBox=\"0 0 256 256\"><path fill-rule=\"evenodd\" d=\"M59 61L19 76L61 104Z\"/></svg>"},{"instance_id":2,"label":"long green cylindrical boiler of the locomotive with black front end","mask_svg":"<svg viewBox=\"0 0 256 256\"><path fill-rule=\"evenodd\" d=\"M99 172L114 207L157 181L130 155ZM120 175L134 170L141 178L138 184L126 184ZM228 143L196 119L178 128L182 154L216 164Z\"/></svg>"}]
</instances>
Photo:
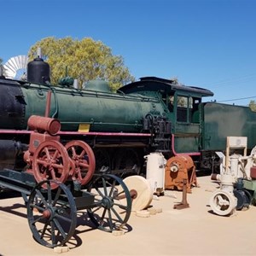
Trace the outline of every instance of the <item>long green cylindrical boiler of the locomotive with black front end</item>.
<instances>
[{"instance_id":1,"label":"long green cylindrical boiler of the locomotive with black front end","mask_svg":"<svg viewBox=\"0 0 256 256\"><path fill-rule=\"evenodd\" d=\"M147 113L161 115L157 98L112 93L108 84L92 81L84 90L0 79L0 129L26 129L28 118L44 116L51 90L49 117L61 121L62 131L140 132Z\"/></svg>"}]
</instances>

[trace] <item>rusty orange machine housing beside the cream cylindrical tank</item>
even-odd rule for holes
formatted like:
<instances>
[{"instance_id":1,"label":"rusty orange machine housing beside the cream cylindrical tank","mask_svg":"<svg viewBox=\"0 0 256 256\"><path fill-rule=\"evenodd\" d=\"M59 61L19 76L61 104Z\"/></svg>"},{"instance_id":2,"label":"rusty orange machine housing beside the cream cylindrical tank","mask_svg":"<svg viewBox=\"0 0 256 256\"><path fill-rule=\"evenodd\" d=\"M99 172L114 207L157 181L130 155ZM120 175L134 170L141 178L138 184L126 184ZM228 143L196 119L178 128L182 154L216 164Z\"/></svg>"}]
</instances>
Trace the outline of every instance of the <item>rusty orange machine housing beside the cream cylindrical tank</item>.
<instances>
[{"instance_id":1,"label":"rusty orange machine housing beside the cream cylindrical tank","mask_svg":"<svg viewBox=\"0 0 256 256\"><path fill-rule=\"evenodd\" d=\"M194 162L189 155L173 156L166 162L165 189L183 190L184 179L187 180L187 191L191 193L192 186L197 186Z\"/></svg>"}]
</instances>

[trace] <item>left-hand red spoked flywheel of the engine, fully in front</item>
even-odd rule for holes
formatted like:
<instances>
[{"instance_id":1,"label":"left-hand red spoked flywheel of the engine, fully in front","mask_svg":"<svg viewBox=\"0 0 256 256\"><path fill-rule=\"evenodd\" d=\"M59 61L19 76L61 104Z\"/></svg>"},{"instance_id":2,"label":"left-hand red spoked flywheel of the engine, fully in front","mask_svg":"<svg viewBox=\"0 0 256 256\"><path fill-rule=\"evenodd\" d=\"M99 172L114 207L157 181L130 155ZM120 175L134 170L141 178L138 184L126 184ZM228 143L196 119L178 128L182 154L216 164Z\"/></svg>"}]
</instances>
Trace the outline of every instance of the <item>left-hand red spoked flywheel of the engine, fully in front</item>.
<instances>
[{"instance_id":1,"label":"left-hand red spoked flywheel of the engine, fully in front","mask_svg":"<svg viewBox=\"0 0 256 256\"><path fill-rule=\"evenodd\" d=\"M55 141L41 143L33 155L32 171L38 183L44 180L65 183L70 172L70 160L66 148ZM57 187L58 183L51 183L51 189Z\"/></svg>"}]
</instances>

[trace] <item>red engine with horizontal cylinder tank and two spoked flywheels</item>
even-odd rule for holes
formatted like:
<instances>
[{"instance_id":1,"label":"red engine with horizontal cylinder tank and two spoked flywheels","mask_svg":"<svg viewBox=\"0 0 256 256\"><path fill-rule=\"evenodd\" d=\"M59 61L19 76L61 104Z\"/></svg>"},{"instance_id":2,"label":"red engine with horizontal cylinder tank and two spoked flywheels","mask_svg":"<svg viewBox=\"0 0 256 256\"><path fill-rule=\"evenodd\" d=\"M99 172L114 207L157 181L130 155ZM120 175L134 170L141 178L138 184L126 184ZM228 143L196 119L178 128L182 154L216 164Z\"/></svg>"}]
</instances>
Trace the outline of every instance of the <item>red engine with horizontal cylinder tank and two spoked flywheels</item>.
<instances>
[{"instance_id":1,"label":"red engine with horizontal cylinder tank and two spoked flywheels","mask_svg":"<svg viewBox=\"0 0 256 256\"><path fill-rule=\"evenodd\" d=\"M53 179L65 183L67 179L79 185L88 183L95 172L96 160L92 149L82 141L71 141L64 147L55 134L61 130L57 119L32 115L28 119L32 131L24 160L38 183ZM44 184L46 185L46 184ZM51 183L56 189L58 183Z\"/></svg>"}]
</instances>

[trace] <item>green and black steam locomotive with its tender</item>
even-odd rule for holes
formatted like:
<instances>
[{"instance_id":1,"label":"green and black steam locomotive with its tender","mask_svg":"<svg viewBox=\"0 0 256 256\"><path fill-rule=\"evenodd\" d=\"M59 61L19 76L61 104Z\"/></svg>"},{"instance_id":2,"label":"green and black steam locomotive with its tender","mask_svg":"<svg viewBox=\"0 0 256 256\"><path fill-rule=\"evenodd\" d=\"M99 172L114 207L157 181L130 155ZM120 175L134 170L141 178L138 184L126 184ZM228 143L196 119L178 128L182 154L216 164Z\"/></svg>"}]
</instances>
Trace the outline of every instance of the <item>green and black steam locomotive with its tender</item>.
<instances>
[{"instance_id":1,"label":"green and black steam locomotive with its tender","mask_svg":"<svg viewBox=\"0 0 256 256\"><path fill-rule=\"evenodd\" d=\"M76 139L90 145L97 172L145 171L144 155L160 152L166 159L188 154L198 170L218 169L216 152L224 151L226 137L256 142L256 113L249 108L203 102L212 91L177 84L174 80L145 77L116 92L105 81L93 80L83 89L67 79L50 84L49 65L41 58L28 63L27 80L0 78L0 170L22 170L23 153L32 115L60 120L62 143Z\"/></svg>"}]
</instances>

